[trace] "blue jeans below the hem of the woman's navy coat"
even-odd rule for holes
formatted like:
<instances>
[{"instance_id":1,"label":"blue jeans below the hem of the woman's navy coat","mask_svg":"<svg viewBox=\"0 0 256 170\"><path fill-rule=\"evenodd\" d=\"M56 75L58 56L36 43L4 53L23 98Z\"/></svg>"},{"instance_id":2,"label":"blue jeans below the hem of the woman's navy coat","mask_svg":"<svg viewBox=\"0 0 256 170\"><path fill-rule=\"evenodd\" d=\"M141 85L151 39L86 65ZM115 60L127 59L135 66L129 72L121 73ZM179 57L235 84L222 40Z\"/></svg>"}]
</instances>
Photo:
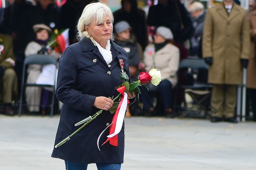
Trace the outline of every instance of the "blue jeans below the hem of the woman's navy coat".
<instances>
[{"instance_id":1,"label":"blue jeans below the hem of the woman's navy coat","mask_svg":"<svg viewBox=\"0 0 256 170\"><path fill-rule=\"evenodd\" d=\"M86 170L88 164L65 160L66 170ZM120 170L121 164L96 164L98 170Z\"/></svg>"}]
</instances>

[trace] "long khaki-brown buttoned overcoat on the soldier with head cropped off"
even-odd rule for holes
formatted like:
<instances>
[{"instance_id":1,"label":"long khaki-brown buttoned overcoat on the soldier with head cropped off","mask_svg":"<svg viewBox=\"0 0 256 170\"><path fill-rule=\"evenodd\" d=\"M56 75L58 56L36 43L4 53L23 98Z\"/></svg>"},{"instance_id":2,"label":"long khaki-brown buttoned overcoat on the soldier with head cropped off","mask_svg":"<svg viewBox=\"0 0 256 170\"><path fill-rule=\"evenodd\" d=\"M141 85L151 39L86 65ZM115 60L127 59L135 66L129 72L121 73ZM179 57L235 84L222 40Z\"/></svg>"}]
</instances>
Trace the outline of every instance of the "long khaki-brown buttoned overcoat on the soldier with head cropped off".
<instances>
[{"instance_id":1,"label":"long khaki-brown buttoned overcoat on the soldier with head cropped off","mask_svg":"<svg viewBox=\"0 0 256 170\"><path fill-rule=\"evenodd\" d=\"M249 59L247 11L233 3L228 15L223 3L209 8L203 29L203 57L213 57L209 83L241 84L241 58Z\"/></svg>"}]
</instances>

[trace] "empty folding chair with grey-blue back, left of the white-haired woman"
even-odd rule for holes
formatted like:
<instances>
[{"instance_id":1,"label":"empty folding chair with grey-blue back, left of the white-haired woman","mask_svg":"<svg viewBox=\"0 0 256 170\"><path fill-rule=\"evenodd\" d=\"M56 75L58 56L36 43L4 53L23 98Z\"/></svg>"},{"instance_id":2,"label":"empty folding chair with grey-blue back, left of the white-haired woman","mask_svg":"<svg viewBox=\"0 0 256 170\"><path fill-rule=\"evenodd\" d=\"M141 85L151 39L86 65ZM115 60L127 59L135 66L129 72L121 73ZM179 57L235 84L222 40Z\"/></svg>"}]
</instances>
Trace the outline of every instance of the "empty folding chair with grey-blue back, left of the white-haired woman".
<instances>
[{"instance_id":1,"label":"empty folding chair with grey-blue back, left of the white-haired woman","mask_svg":"<svg viewBox=\"0 0 256 170\"><path fill-rule=\"evenodd\" d=\"M23 103L22 99L23 94L24 94L24 90L26 89L26 87L30 86L30 87L50 87L53 89L52 92L52 96L51 96L51 104L48 104L46 106L49 106L51 108L51 112L50 115L51 117L53 116L53 107L54 107L54 97L55 97L55 89L56 89L56 72L54 71L54 85L49 85L47 84L47 82L45 82L45 84L29 84L26 83L27 80L25 80L25 75L26 75L26 68L29 64L39 64L39 65L47 65L47 64L54 64L56 66L56 69L58 68L58 62L56 60L56 58L52 55L42 55L42 54L33 54L33 55L29 55L25 58L24 61L24 65L23 65L23 71L22 71L22 83L21 83L21 90L20 90L20 98L19 98L19 116L21 115L22 112L22 106L28 106L28 104ZM40 104L40 106L42 106Z\"/></svg>"}]
</instances>

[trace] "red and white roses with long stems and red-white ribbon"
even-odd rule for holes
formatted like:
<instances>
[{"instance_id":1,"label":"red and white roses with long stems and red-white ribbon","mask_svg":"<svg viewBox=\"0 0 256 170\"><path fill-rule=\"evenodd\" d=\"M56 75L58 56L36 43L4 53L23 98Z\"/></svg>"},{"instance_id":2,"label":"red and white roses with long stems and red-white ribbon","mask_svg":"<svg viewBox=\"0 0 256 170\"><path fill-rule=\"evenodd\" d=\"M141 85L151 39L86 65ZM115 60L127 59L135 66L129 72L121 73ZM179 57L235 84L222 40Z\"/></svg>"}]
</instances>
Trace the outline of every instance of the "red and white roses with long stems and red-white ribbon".
<instances>
[{"instance_id":1,"label":"red and white roses with long stems and red-white ribbon","mask_svg":"<svg viewBox=\"0 0 256 170\"><path fill-rule=\"evenodd\" d=\"M125 116L125 113L126 113L127 103L129 103L129 101L127 102L126 92L130 93L131 96L133 94L133 91L136 92L137 93L136 97L139 99L139 94L141 94L139 86L144 85L144 86L147 87L150 83L157 86L160 83L162 77L161 77L161 72L154 68L154 69L151 69L149 72L147 72L147 71L141 72L138 76L139 80L134 81L130 84L128 82L129 77L125 72L122 72L120 74L120 79L125 80L125 81L122 83L122 85L116 87L117 91L120 92L120 94L115 98L114 97L111 98L114 101L114 104L109 109L109 111L110 111L111 114L115 113L115 115L114 115L114 118L112 120L112 123L110 124L110 135L107 136L108 139L104 142L104 143L106 143L107 141L110 140L110 144L114 145L114 146L117 146L117 140L115 140L113 142L113 141L111 141L111 138L112 137L117 138L117 134L120 132L120 130L122 128L124 116ZM118 99L118 101L115 102L117 99ZM103 112L103 109L98 111L93 116L89 116L86 119L76 123L75 126L78 126L78 125L83 124L83 123L84 124L79 129L77 129L74 133L72 133L67 138L65 138L61 142L59 142L55 146L55 148L61 146L63 143L68 141L73 135L75 135L77 132L79 132L81 129L83 129L84 126L86 126L88 123L93 121L102 112ZM102 135L102 133L100 134L100 136ZM100 136L99 136L99 138L100 138ZM98 138L97 142L99 142L99 138ZM104 143L102 145L104 145ZM99 148L99 145L98 145L98 148Z\"/></svg>"}]
</instances>

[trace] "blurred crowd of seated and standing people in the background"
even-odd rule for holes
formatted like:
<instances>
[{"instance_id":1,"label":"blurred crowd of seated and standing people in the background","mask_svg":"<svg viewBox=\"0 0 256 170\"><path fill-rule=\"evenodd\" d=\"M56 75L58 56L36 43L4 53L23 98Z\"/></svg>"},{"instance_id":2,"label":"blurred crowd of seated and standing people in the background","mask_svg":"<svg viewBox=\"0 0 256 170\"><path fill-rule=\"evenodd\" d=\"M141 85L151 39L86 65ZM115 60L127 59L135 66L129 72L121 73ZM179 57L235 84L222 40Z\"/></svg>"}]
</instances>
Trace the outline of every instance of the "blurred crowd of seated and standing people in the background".
<instances>
[{"instance_id":1,"label":"blurred crowd of seated and standing people in the background","mask_svg":"<svg viewBox=\"0 0 256 170\"><path fill-rule=\"evenodd\" d=\"M69 28L69 44L76 43L77 21L91 2L9 0L1 8L0 104L4 114L15 114L13 103L20 94L25 58L30 54L51 54L59 60L61 51L47 47L51 36L56 30ZM236 89L242 81L242 68L248 70L246 114L249 119L253 113L256 121L255 0L250 0L249 11L240 7L239 0L223 0L211 8L200 0L191 1L187 7L179 0L149 0L143 9L137 0L120 3L122 7L113 12L114 42L128 53L132 81L138 79L140 72L152 68L162 75L158 86L140 87L140 100L127 107L126 117L178 116L173 107L185 100L174 95L184 79L178 75L179 63L193 56L203 58L209 65L209 73L198 76L213 84L211 121L236 122ZM41 71L41 66L30 65L26 81L36 82ZM32 106L24 112L47 111L38 105L47 102L48 93L52 91L27 88L23 100Z\"/></svg>"}]
</instances>

